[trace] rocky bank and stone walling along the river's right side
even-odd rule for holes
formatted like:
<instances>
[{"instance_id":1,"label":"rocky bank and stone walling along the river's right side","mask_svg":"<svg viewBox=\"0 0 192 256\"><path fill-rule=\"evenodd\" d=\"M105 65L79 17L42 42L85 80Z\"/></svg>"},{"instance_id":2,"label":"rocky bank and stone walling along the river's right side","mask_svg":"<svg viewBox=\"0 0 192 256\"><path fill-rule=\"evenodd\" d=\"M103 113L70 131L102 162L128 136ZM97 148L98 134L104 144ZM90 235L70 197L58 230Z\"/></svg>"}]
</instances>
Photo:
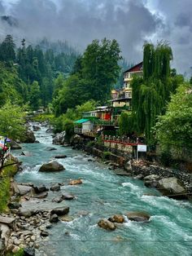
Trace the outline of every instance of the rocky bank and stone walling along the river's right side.
<instances>
[{"instance_id":1,"label":"rocky bank and stone walling along the river's right side","mask_svg":"<svg viewBox=\"0 0 192 256\"><path fill-rule=\"evenodd\" d=\"M53 143L64 144L63 136L63 133L56 135ZM146 187L156 188L164 196L191 200L191 173L185 170L181 171L159 166L156 161L135 161L128 153L118 152L118 150L111 152L109 148L94 142L91 146L89 144L89 139L83 139L79 135L75 135L71 139L71 145L74 149L80 149L94 157L98 157L98 159L103 160L109 166L109 169L114 170L116 174L132 176L134 179L142 179Z\"/></svg>"}]
</instances>

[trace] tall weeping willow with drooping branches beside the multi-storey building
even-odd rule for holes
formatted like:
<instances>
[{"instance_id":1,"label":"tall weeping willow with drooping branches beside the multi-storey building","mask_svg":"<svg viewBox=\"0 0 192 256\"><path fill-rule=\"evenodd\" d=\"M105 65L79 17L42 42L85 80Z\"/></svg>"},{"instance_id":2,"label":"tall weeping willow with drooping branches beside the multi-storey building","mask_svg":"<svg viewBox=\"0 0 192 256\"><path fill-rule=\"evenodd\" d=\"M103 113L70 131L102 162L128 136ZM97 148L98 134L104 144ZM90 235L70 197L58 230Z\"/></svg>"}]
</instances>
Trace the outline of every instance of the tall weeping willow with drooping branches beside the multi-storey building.
<instances>
[{"instance_id":1,"label":"tall weeping willow with drooping branches beside the multi-storey building","mask_svg":"<svg viewBox=\"0 0 192 256\"><path fill-rule=\"evenodd\" d=\"M167 42L159 42L157 46L146 42L143 47L143 78L134 78L132 82L137 132L144 133L148 143L152 139L151 128L157 117L165 112L172 92L170 60L172 49Z\"/></svg>"}]
</instances>

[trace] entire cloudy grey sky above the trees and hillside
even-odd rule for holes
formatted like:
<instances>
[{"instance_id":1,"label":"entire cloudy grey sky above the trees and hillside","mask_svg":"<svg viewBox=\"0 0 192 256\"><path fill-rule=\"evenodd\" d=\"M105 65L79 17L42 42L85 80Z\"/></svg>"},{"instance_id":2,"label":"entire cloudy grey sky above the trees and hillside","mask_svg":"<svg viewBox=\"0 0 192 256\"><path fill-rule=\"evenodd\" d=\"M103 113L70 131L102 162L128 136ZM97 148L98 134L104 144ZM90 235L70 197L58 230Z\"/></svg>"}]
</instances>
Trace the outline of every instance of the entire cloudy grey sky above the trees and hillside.
<instances>
[{"instance_id":1,"label":"entire cloudy grey sky above the trees and hillside","mask_svg":"<svg viewBox=\"0 0 192 256\"><path fill-rule=\"evenodd\" d=\"M167 40L180 73L192 66L192 0L0 0L0 38L13 33L28 42L62 39L84 49L94 38L115 38L131 63L142 60L145 40ZM191 68L192 70L192 68Z\"/></svg>"}]
</instances>

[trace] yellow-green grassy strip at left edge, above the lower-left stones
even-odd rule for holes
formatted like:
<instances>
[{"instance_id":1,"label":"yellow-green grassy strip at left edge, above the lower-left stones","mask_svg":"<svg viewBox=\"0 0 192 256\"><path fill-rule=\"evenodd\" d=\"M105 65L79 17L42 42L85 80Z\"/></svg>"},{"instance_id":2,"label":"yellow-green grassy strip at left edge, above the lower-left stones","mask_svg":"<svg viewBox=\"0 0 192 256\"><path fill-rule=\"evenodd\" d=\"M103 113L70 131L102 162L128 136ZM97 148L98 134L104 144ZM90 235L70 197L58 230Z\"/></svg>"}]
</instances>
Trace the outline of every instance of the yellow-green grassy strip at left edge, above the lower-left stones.
<instances>
[{"instance_id":1,"label":"yellow-green grassy strip at left edge, above the lower-left stones","mask_svg":"<svg viewBox=\"0 0 192 256\"><path fill-rule=\"evenodd\" d=\"M13 161L7 161L5 165L11 164ZM10 199L11 177L17 172L17 166L7 166L0 173L0 213L7 210L7 204Z\"/></svg>"}]
</instances>

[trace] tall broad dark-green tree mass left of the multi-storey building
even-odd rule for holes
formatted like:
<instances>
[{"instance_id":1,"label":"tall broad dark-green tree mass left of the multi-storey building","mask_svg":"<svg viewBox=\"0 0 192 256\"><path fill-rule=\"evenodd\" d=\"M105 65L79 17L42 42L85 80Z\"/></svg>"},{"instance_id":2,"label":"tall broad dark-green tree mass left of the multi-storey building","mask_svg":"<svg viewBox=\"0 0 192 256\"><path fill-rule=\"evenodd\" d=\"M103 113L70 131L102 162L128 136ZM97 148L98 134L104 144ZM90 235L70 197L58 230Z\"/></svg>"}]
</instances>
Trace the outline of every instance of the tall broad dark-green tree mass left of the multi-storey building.
<instances>
[{"instance_id":1,"label":"tall broad dark-green tree mass left of the multi-storey building","mask_svg":"<svg viewBox=\"0 0 192 256\"><path fill-rule=\"evenodd\" d=\"M63 82L63 88L55 98L56 115L89 99L101 104L110 99L111 88L119 77L120 59L116 40L94 40L87 46L85 53L76 60L72 75Z\"/></svg>"}]
</instances>

